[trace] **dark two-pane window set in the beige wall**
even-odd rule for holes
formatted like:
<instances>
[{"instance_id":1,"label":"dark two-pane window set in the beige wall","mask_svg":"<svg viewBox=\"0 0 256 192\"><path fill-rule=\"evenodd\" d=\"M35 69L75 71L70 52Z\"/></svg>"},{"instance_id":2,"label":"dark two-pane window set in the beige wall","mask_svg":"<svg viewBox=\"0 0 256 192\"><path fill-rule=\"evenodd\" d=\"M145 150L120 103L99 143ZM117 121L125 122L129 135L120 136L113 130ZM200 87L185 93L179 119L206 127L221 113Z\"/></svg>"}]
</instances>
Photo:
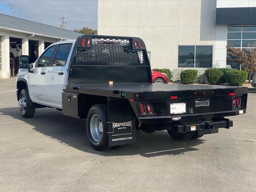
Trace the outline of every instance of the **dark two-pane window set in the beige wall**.
<instances>
[{"instance_id":1,"label":"dark two-pane window set in the beige wall","mask_svg":"<svg viewBox=\"0 0 256 192\"><path fill-rule=\"evenodd\" d=\"M178 67L211 68L212 46L179 46Z\"/></svg>"}]
</instances>

